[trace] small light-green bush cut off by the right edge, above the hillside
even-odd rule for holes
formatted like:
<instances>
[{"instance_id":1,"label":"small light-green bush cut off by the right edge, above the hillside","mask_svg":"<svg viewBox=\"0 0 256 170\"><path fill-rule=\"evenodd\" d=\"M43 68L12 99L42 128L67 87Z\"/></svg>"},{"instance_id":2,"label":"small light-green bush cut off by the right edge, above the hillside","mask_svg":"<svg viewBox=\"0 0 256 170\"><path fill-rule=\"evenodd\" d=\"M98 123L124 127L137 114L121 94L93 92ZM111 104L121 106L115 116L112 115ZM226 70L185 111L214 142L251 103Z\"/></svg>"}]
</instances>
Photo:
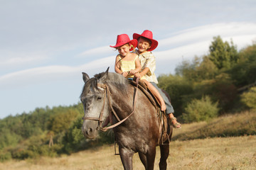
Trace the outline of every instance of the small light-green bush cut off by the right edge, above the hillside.
<instances>
[{"instance_id":1,"label":"small light-green bush cut off by the right edge, above the hillside","mask_svg":"<svg viewBox=\"0 0 256 170\"><path fill-rule=\"evenodd\" d=\"M242 94L241 101L249 108L256 108L256 86Z\"/></svg>"}]
</instances>

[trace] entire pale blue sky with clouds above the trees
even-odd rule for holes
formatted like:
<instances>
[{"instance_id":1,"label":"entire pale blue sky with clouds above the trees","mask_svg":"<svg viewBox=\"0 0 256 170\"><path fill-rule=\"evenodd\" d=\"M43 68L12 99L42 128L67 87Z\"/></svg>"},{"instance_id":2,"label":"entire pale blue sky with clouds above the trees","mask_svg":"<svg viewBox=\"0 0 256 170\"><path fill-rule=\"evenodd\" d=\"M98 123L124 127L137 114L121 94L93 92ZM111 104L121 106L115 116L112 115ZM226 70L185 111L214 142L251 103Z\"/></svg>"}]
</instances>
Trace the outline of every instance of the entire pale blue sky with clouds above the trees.
<instances>
[{"instance_id":1,"label":"entire pale blue sky with clouds above the trees","mask_svg":"<svg viewBox=\"0 0 256 170\"><path fill-rule=\"evenodd\" d=\"M214 36L252 45L255 16L255 0L0 0L0 118L78 103L81 72L114 72L119 34L151 30L156 74L174 74Z\"/></svg>"}]
</instances>

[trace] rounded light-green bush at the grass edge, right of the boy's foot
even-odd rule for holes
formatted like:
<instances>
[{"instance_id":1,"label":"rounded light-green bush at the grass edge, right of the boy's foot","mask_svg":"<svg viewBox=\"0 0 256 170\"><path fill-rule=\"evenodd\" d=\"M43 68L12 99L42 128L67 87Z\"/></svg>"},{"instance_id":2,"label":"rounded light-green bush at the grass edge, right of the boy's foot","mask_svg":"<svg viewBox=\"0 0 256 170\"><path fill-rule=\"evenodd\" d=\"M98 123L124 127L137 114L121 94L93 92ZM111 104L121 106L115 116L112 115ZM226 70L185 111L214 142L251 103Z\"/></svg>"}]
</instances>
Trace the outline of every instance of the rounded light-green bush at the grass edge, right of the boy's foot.
<instances>
[{"instance_id":1,"label":"rounded light-green bush at the grass edge, right of the boy's foot","mask_svg":"<svg viewBox=\"0 0 256 170\"><path fill-rule=\"evenodd\" d=\"M186 113L183 114L183 119L187 123L210 120L218 115L218 102L212 103L209 96L203 96L201 100L193 99L185 108Z\"/></svg>"}]
</instances>

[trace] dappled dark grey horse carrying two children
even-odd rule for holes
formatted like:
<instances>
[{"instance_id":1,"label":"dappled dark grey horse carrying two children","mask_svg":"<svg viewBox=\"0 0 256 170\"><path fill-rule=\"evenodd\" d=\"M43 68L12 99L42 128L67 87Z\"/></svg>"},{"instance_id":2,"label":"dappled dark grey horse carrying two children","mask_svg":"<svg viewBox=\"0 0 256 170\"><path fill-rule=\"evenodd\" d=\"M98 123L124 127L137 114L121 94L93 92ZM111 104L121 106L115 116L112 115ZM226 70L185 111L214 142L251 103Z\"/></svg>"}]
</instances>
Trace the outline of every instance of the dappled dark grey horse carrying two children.
<instances>
[{"instance_id":1,"label":"dappled dark grey horse carrying two children","mask_svg":"<svg viewBox=\"0 0 256 170\"><path fill-rule=\"evenodd\" d=\"M85 112L82 125L85 137L97 137L97 130L105 130L102 124L106 119L110 120L124 169L132 169L132 157L136 152L145 169L154 169L158 145L161 149L159 169L166 169L172 134L166 117L162 121L168 135L162 135L156 108L129 80L120 74L108 72L108 69L91 79L86 73L82 75L85 85L80 100Z\"/></svg>"}]
</instances>

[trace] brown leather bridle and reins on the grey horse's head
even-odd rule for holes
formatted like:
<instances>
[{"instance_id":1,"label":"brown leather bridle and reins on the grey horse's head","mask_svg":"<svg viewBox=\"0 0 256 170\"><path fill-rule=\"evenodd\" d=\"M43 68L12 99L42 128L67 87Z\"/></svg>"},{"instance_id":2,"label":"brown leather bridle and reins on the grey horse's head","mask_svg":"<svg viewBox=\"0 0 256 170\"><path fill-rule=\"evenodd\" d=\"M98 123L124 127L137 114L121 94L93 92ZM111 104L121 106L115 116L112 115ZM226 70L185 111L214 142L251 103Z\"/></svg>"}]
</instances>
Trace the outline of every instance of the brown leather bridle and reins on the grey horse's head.
<instances>
[{"instance_id":1,"label":"brown leather bridle and reins on the grey horse's head","mask_svg":"<svg viewBox=\"0 0 256 170\"><path fill-rule=\"evenodd\" d=\"M126 118L124 118L123 120L120 120L120 118L118 117L117 113L114 111L114 108L112 107L112 102L111 102L111 94L110 94L110 87L107 86L107 84L100 84L98 83L97 86L104 89L104 98L103 98L103 106L102 106L102 110L100 111L100 116L97 118L97 117L83 117L82 119L83 120L95 120L95 121L98 121L98 127L96 128L96 130L101 130L101 131L107 131L111 128L114 128L116 127L117 125L120 125L121 123L123 123L125 120L127 120L135 111L135 106L136 106L136 101L137 101L137 91L138 91L138 84L139 84L139 78L136 79L136 83L137 83L137 86L136 86L136 92L135 92L135 96L134 96L134 104L133 104L133 109L132 109L132 113L130 113ZM117 120L119 121L118 123L115 123L114 125L110 125L108 127L102 127L102 122L104 121L102 119L102 116L103 116L103 111L104 111L104 107L105 107L105 102L106 102L106 98L107 98L107 101L109 103L109 106L111 108L111 113L109 115L110 117L110 123L112 123L112 113L114 114L114 116L117 118Z\"/></svg>"}]
</instances>

